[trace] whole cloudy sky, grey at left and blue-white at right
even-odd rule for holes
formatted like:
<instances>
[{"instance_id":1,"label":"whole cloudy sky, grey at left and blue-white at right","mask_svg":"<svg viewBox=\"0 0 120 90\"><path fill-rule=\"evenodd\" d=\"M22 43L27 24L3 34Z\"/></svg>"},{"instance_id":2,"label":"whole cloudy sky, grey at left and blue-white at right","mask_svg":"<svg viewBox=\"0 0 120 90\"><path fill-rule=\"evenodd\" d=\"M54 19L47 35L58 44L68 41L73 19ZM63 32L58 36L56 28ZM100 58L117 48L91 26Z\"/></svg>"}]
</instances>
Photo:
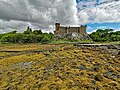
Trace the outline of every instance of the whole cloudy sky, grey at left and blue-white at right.
<instances>
[{"instance_id":1,"label":"whole cloudy sky, grey at left and blue-white at right","mask_svg":"<svg viewBox=\"0 0 120 90\"><path fill-rule=\"evenodd\" d=\"M0 33L27 26L54 30L54 23L120 30L120 0L0 0Z\"/></svg>"}]
</instances>

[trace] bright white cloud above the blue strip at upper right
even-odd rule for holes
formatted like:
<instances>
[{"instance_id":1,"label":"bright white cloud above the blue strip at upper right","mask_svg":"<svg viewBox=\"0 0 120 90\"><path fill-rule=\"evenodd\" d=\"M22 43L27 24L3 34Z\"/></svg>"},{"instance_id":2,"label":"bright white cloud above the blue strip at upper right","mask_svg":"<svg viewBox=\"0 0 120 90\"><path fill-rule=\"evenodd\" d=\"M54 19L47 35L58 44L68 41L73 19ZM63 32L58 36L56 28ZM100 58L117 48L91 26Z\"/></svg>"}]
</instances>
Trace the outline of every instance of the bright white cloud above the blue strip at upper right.
<instances>
[{"instance_id":1,"label":"bright white cloud above the blue strip at upper right","mask_svg":"<svg viewBox=\"0 0 120 90\"><path fill-rule=\"evenodd\" d=\"M86 5L85 8L82 8L81 4L78 4L78 8L81 8L78 14L79 17L80 15L84 16L84 13L87 15L87 17L85 15L86 18L80 17L80 19L86 21L86 24L91 22L120 22L120 1L100 0L100 4L96 5L95 1L91 0L90 3L91 5L84 3Z\"/></svg>"}]
</instances>

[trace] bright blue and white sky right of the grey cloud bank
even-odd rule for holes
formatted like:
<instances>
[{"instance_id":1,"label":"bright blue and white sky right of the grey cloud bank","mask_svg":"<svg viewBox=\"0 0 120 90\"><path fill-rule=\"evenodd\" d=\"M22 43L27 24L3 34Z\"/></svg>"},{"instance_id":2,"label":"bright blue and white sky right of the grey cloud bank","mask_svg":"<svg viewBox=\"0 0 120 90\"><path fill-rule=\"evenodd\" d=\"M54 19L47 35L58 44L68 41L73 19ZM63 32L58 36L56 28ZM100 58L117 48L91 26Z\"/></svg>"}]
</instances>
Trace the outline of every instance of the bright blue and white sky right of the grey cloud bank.
<instances>
[{"instance_id":1,"label":"bright blue and white sky right of the grey cloud bank","mask_svg":"<svg viewBox=\"0 0 120 90\"><path fill-rule=\"evenodd\" d=\"M120 30L120 17L118 17L120 15L120 2L117 2L116 0L76 0L76 2L78 3L78 13L84 12L89 17L88 19L86 19L87 32L90 33L95 31L96 29L107 28ZM109 12L109 9L106 9L106 7L108 7L111 12ZM114 7L117 7L117 9ZM87 11L89 9L91 9L91 12ZM94 10L92 11L92 9L96 10L96 13L94 13ZM96 14L96 16L90 16L90 13L92 13L93 15ZM101 16L99 16L100 14L97 13L100 13ZM113 17L116 18L111 18L112 14ZM93 20L90 20L90 18L93 18Z\"/></svg>"}]
</instances>

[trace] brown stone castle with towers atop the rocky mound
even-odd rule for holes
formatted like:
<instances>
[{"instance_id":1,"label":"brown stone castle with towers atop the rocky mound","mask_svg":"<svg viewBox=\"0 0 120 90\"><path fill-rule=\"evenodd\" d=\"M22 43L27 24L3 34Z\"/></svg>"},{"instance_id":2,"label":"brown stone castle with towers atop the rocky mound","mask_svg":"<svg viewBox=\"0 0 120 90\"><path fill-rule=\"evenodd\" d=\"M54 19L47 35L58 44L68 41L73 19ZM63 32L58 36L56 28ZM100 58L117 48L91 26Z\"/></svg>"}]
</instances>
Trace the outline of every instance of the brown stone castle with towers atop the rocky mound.
<instances>
[{"instance_id":1,"label":"brown stone castle with towers atop the rocky mound","mask_svg":"<svg viewBox=\"0 0 120 90\"><path fill-rule=\"evenodd\" d=\"M56 36L62 36L65 34L72 34L72 33L78 33L78 34L87 34L86 33L86 26L80 26L80 27L67 27L67 26L61 26L60 23L55 23L55 31L54 34Z\"/></svg>"}]
</instances>

